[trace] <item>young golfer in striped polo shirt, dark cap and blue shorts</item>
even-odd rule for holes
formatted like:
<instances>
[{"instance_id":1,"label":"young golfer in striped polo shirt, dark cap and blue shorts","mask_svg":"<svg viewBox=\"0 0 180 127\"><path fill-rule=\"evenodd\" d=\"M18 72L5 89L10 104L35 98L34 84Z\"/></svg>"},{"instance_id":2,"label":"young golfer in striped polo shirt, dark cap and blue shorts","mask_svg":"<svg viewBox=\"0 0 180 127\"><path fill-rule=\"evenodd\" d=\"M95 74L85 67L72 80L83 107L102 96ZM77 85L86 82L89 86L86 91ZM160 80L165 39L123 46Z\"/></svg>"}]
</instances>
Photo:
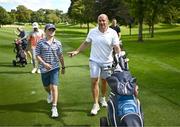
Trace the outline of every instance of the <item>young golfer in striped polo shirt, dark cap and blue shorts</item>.
<instances>
[{"instance_id":1,"label":"young golfer in striped polo shirt, dark cap and blue shorts","mask_svg":"<svg viewBox=\"0 0 180 127\"><path fill-rule=\"evenodd\" d=\"M58 117L58 84L59 84L59 62L61 63L61 74L65 73L64 58L61 42L54 38L56 27L53 24L45 26L46 38L41 39L36 46L36 57L39 61L41 79L44 89L48 93L47 102L52 103L51 117Z\"/></svg>"}]
</instances>

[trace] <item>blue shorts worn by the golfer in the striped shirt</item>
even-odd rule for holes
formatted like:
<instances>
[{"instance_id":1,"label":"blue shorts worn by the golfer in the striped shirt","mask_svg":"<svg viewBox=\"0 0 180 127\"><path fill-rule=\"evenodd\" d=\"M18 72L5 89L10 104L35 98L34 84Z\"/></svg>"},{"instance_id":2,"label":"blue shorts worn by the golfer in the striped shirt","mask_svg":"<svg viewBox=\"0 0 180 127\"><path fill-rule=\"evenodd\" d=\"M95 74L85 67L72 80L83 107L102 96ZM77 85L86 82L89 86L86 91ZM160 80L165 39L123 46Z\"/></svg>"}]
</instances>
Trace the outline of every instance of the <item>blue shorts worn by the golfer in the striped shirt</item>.
<instances>
[{"instance_id":1,"label":"blue shorts worn by the golfer in the striped shirt","mask_svg":"<svg viewBox=\"0 0 180 127\"><path fill-rule=\"evenodd\" d=\"M47 73L41 73L41 79L43 82L43 86L47 87L51 85L59 84L59 68L51 70Z\"/></svg>"}]
</instances>

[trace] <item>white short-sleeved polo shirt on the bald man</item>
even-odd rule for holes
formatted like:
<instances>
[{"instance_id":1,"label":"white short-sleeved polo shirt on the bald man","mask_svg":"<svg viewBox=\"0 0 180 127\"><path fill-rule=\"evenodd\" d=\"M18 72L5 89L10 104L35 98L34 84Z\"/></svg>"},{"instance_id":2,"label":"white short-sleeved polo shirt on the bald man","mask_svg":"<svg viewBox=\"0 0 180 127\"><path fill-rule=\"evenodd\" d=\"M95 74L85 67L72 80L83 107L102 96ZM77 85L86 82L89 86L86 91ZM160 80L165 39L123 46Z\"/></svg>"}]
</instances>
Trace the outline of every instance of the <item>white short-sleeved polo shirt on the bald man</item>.
<instances>
[{"instance_id":1,"label":"white short-sleeved polo shirt on the bald man","mask_svg":"<svg viewBox=\"0 0 180 127\"><path fill-rule=\"evenodd\" d=\"M96 27L90 30L86 42L91 43L90 60L97 63L110 63L113 61L113 46L119 45L119 37L112 28L102 33Z\"/></svg>"}]
</instances>

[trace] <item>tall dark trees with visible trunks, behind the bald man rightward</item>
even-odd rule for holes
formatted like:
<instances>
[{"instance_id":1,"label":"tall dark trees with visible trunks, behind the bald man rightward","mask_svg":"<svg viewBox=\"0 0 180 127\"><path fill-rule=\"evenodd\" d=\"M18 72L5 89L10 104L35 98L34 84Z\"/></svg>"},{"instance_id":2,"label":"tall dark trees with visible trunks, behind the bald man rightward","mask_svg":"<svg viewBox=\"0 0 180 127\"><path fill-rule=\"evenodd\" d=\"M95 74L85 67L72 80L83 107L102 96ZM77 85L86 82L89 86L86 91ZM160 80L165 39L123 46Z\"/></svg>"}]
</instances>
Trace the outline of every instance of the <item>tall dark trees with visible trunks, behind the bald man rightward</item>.
<instances>
[{"instance_id":1,"label":"tall dark trees with visible trunks, behind the bald man rightward","mask_svg":"<svg viewBox=\"0 0 180 127\"><path fill-rule=\"evenodd\" d=\"M156 23L180 23L179 0L71 0L68 15L79 23L97 20L97 15L105 13L110 20L116 18L122 25L139 26L138 41L143 41L143 24L149 26L154 36ZM131 34L131 33L130 33Z\"/></svg>"}]
</instances>

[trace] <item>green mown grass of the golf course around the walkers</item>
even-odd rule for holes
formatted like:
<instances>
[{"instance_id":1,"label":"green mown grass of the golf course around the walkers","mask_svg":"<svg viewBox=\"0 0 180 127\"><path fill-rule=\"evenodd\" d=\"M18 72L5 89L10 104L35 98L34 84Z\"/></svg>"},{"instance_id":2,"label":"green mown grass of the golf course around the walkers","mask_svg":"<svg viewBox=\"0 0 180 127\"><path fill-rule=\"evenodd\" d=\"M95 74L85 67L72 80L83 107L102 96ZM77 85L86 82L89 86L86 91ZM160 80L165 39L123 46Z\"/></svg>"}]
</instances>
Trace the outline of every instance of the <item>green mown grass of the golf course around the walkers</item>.
<instances>
[{"instance_id":1,"label":"green mown grass of the golf course around the walkers","mask_svg":"<svg viewBox=\"0 0 180 127\"><path fill-rule=\"evenodd\" d=\"M74 58L74 50L86 37L86 29L58 25L56 37L64 47L66 74L59 87L60 117L50 118L51 106L39 74L31 74L32 65L12 67L15 28L0 28L0 126L99 126L102 109L90 116L92 95L89 78L89 50ZM30 30L29 27L26 30ZM137 42L137 28L122 27L124 49L130 58L131 73L137 77L145 126L180 126L180 26L159 24L155 37L145 27L144 42Z\"/></svg>"}]
</instances>

